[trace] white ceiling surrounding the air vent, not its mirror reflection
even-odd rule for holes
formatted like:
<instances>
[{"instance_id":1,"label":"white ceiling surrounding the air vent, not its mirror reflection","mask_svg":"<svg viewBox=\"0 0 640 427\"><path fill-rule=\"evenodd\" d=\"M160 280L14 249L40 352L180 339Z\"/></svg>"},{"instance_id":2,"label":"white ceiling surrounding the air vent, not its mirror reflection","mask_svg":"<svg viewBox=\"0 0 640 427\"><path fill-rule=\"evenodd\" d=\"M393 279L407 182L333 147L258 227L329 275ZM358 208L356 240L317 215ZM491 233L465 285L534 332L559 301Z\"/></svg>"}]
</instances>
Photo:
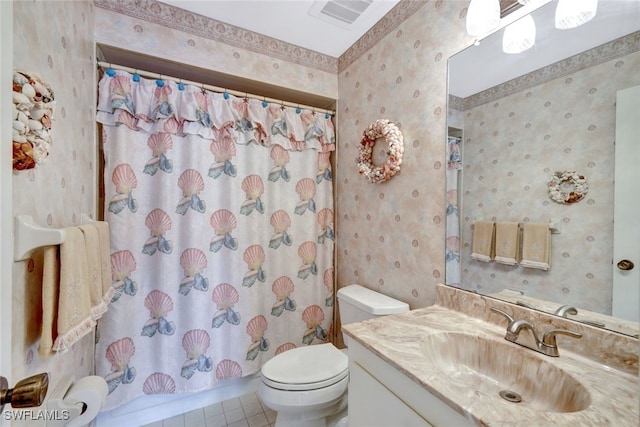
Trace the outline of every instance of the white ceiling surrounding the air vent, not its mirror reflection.
<instances>
[{"instance_id":1,"label":"white ceiling surrounding the air vent, not its mirror reflection","mask_svg":"<svg viewBox=\"0 0 640 427\"><path fill-rule=\"evenodd\" d=\"M340 57L399 2L373 0L347 29L309 15L313 0L162 1L333 58Z\"/></svg>"}]
</instances>

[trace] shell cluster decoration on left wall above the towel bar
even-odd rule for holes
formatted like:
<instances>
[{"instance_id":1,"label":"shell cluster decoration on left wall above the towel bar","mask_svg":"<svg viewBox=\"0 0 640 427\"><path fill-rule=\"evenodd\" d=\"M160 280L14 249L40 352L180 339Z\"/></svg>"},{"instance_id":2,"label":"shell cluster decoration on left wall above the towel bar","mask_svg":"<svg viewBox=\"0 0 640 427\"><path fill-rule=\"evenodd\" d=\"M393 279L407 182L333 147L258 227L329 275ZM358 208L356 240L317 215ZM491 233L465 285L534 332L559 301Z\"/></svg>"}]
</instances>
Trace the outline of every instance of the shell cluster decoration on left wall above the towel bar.
<instances>
[{"instance_id":1,"label":"shell cluster decoration on left wall above the towel bar","mask_svg":"<svg viewBox=\"0 0 640 427\"><path fill-rule=\"evenodd\" d=\"M13 73L13 169L33 169L51 148L53 90L36 73Z\"/></svg>"}]
</instances>

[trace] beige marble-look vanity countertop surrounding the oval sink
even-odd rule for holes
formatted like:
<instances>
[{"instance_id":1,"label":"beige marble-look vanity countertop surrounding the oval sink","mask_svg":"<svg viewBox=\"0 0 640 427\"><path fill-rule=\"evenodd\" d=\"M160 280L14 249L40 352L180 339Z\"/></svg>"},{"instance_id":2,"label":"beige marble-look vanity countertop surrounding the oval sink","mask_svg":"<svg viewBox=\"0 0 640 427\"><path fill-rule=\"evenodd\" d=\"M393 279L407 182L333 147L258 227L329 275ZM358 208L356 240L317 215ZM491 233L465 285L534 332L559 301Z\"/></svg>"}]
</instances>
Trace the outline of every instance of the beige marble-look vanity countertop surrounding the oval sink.
<instances>
[{"instance_id":1,"label":"beige marble-look vanity countertop surrounding the oval sink","mask_svg":"<svg viewBox=\"0 0 640 427\"><path fill-rule=\"evenodd\" d=\"M497 315L496 315L497 316ZM637 426L640 419L640 381L634 373L599 364L562 348L560 357L549 357L504 340L505 326L434 305L407 313L343 326L350 339L404 373L412 381L481 426ZM590 393L591 404L577 412L545 412L523 404L485 395L479 387L457 381L425 360L422 342L428 334L461 332L502 340L531 352L535 363L551 363L579 381ZM538 360L542 359L542 360ZM495 360L493 363L500 363Z\"/></svg>"}]
</instances>

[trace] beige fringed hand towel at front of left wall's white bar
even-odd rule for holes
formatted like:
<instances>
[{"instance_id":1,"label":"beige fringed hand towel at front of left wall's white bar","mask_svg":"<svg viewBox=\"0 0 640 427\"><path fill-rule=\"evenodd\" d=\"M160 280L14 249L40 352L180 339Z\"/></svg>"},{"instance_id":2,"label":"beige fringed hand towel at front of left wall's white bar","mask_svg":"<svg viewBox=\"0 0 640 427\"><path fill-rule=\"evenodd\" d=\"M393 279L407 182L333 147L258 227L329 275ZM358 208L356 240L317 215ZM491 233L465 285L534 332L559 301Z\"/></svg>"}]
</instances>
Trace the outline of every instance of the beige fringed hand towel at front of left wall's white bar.
<instances>
[{"instance_id":1,"label":"beige fringed hand towel at front of left wall's white bar","mask_svg":"<svg viewBox=\"0 0 640 427\"><path fill-rule=\"evenodd\" d=\"M78 227L67 227L60 245L60 292L58 336L53 350L66 351L93 330L89 273L84 235Z\"/></svg>"}]
</instances>

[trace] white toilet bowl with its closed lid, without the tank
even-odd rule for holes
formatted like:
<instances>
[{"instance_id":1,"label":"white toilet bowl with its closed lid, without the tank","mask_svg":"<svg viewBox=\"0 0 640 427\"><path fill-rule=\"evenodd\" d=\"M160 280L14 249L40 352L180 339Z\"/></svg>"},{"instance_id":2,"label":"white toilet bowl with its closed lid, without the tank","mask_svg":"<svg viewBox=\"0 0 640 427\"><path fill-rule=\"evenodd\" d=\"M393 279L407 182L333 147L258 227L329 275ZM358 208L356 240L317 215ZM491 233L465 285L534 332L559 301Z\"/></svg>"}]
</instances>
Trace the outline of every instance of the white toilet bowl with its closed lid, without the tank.
<instances>
[{"instance_id":1,"label":"white toilet bowl with its closed lid, without the tank","mask_svg":"<svg viewBox=\"0 0 640 427\"><path fill-rule=\"evenodd\" d=\"M348 358L333 344L299 347L262 367L258 396L276 427L325 427L346 416Z\"/></svg>"}]
</instances>

